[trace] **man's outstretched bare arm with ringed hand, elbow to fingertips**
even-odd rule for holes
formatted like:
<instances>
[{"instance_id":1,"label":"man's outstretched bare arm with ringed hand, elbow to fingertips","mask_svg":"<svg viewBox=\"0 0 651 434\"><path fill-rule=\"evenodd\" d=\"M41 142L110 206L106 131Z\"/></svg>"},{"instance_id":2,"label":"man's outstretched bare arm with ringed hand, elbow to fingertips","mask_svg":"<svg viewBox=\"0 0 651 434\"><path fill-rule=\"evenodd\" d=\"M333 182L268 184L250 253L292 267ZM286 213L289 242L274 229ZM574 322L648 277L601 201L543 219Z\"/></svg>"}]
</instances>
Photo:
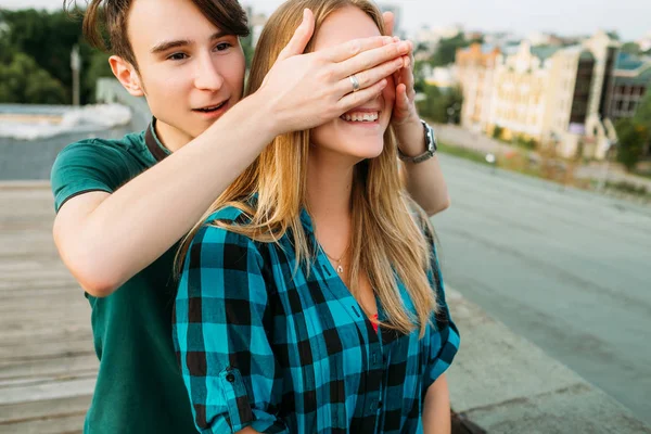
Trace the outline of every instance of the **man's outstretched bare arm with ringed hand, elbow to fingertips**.
<instances>
[{"instance_id":1,"label":"man's outstretched bare arm with ringed hand, elbow to fingertips","mask_svg":"<svg viewBox=\"0 0 651 434\"><path fill-rule=\"evenodd\" d=\"M170 248L276 136L375 98L408 52L370 38L298 55L312 33L308 14L263 87L181 150L113 194L81 194L61 207L54 241L88 293L110 295ZM355 93L352 74L363 88Z\"/></svg>"}]
</instances>

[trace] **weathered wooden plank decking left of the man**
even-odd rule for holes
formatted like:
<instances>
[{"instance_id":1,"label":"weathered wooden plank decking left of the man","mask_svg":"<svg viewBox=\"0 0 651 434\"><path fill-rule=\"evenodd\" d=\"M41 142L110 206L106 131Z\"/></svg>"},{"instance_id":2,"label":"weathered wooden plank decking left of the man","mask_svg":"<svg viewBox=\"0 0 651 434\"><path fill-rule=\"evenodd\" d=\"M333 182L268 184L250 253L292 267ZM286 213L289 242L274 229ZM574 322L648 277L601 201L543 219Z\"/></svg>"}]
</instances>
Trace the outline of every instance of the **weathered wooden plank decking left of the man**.
<instances>
[{"instance_id":1,"label":"weathered wooden plank decking left of the man","mask_svg":"<svg viewBox=\"0 0 651 434\"><path fill-rule=\"evenodd\" d=\"M90 306L52 240L47 183L0 182L0 432L80 433L98 370Z\"/></svg>"}]
</instances>

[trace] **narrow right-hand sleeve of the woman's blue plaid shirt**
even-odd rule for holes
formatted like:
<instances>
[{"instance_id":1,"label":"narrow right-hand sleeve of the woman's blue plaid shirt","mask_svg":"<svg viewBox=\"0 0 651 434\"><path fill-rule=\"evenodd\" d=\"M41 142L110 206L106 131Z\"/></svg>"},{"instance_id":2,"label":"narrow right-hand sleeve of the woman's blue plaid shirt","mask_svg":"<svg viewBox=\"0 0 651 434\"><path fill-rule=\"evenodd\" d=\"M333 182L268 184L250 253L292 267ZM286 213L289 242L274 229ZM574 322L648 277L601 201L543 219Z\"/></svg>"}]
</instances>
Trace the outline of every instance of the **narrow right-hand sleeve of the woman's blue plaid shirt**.
<instances>
[{"instance_id":1,"label":"narrow right-hand sleeve of the woman's blue plaid shirt","mask_svg":"<svg viewBox=\"0 0 651 434\"><path fill-rule=\"evenodd\" d=\"M449 307L445 299L445 283L441 272L441 264L436 253L436 240L431 226L424 221L422 226L430 253L430 283L436 292L437 311L434 315L435 326L430 336L430 354L427 357L427 371L425 385L429 387L436 381L452 363L460 345L460 334L452 321ZM426 387L425 387L426 390Z\"/></svg>"}]
</instances>

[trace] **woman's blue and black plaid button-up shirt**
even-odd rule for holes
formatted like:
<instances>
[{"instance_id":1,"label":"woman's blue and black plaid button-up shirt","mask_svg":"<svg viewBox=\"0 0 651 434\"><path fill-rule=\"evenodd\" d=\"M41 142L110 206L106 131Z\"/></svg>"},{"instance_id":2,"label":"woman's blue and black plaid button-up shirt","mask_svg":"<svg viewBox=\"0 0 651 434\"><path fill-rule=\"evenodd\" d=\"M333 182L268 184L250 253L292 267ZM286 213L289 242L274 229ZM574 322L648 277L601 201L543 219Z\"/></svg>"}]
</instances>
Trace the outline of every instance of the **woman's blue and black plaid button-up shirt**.
<instances>
[{"instance_id":1,"label":"woman's blue and black plaid button-up shirt","mask_svg":"<svg viewBox=\"0 0 651 434\"><path fill-rule=\"evenodd\" d=\"M235 208L209 220L244 222ZM316 243L306 212L302 220ZM295 272L289 235L259 243L204 226L186 257L174 341L202 433L421 433L427 387L459 347L434 243L441 311L425 336L380 328L328 257ZM413 308L399 284L408 308ZM379 317L386 319L379 306Z\"/></svg>"}]
</instances>

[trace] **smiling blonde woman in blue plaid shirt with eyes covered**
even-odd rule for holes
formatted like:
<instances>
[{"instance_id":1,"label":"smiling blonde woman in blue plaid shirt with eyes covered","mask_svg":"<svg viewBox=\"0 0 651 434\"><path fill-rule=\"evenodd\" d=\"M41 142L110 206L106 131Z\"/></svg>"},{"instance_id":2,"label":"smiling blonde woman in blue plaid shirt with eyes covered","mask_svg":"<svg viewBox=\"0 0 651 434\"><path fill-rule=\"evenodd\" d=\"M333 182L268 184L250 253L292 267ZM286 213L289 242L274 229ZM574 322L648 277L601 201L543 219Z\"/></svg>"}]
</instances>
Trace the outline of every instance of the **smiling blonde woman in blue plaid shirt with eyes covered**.
<instances>
[{"instance_id":1,"label":"smiling blonde woman in blue plaid shirt with eyes covered","mask_svg":"<svg viewBox=\"0 0 651 434\"><path fill-rule=\"evenodd\" d=\"M305 8L310 51L384 31L368 0L290 0L263 31L248 92ZM449 433L459 334L400 182L388 81L276 138L183 243L174 339L201 432Z\"/></svg>"}]
</instances>

